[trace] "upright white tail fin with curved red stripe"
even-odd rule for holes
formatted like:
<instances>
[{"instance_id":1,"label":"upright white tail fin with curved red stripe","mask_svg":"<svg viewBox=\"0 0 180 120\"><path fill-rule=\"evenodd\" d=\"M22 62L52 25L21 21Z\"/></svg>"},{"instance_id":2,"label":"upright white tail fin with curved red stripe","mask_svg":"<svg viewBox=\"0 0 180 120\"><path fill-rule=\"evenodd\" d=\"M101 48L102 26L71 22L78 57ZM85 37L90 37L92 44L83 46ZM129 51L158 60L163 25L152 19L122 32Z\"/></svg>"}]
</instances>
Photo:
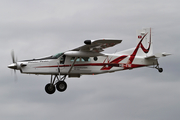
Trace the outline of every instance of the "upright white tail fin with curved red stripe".
<instances>
[{"instance_id":1,"label":"upright white tail fin with curved red stripe","mask_svg":"<svg viewBox=\"0 0 180 120\"><path fill-rule=\"evenodd\" d=\"M138 42L137 56L151 56L153 55L151 28L145 28L142 30L137 30L136 39Z\"/></svg>"}]
</instances>

